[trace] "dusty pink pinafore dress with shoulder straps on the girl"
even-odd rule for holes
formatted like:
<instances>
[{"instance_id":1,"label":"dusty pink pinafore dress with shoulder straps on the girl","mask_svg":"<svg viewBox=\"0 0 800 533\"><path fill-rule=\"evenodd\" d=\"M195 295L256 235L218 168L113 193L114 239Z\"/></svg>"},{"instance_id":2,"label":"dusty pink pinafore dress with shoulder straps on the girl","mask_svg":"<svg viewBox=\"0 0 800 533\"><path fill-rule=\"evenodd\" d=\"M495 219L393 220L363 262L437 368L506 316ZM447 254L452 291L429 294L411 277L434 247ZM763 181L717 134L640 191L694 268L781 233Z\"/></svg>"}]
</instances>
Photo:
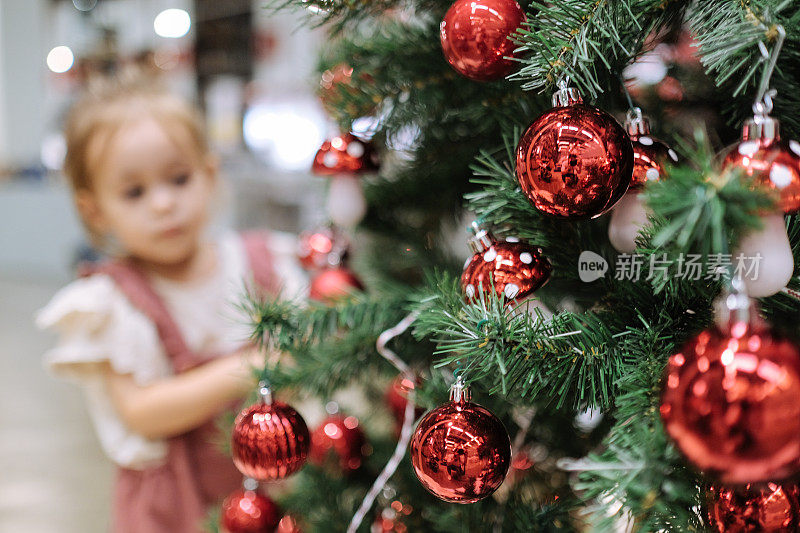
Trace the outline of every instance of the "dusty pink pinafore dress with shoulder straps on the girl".
<instances>
[{"instance_id":1,"label":"dusty pink pinafore dress with shoulder straps on the girl","mask_svg":"<svg viewBox=\"0 0 800 533\"><path fill-rule=\"evenodd\" d=\"M277 290L276 276L263 233L242 236L253 280L267 293ZM131 304L156 326L176 374L202 365L214 354L193 352L164 302L147 278L121 261L92 270L107 274ZM203 394L203 391L197 391ZM219 449L213 420L168 439L163 464L145 470L119 467L113 503L114 533L198 533L209 508L241 486L242 474Z\"/></svg>"}]
</instances>

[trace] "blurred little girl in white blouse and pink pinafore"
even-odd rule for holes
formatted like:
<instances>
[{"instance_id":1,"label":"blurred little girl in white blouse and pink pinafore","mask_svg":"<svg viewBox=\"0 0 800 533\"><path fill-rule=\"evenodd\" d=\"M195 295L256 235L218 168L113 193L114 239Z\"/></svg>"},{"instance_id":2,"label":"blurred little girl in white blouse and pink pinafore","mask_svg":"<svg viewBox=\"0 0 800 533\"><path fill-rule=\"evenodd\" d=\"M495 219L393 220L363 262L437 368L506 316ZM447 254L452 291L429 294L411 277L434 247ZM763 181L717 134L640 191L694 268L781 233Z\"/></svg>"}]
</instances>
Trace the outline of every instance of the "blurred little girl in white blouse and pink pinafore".
<instances>
[{"instance_id":1,"label":"blurred little girl in white blouse and pink pinafore","mask_svg":"<svg viewBox=\"0 0 800 533\"><path fill-rule=\"evenodd\" d=\"M142 82L99 88L74 107L65 136L76 207L113 260L39 312L37 324L59 333L45 365L84 387L119 467L113 531L194 533L241 483L213 419L263 364L237 314L243 280L299 290L294 244L209 238L215 162L198 117L168 94Z\"/></svg>"}]
</instances>

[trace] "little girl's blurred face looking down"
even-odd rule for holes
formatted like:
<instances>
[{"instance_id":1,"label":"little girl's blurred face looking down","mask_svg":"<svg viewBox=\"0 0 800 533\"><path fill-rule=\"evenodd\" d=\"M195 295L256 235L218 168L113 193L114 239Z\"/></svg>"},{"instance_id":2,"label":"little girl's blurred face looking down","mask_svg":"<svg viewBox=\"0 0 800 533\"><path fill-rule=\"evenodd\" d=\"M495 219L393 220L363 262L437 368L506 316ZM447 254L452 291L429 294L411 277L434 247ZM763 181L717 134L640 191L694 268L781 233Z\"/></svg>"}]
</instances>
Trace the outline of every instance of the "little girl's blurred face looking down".
<instances>
[{"instance_id":1,"label":"little girl's blurred face looking down","mask_svg":"<svg viewBox=\"0 0 800 533\"><path fill-rule=\"evenodd\" d=\"M94 190L82 201L84 213L139 260L175 265L198 249L214 168L188 149L185 135L186 142L177 143L145 117L123 126L96 159Z\"/></svg>"}]
</instances>

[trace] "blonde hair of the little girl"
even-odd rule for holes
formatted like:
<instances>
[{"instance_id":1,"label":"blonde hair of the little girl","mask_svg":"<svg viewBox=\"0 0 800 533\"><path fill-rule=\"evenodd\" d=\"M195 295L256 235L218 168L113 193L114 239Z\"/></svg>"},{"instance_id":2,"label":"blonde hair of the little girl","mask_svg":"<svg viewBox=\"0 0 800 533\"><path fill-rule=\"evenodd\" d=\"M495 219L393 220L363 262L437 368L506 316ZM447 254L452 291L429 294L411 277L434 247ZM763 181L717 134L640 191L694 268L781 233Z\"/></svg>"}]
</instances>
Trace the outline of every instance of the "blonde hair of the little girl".
<instances>
[{"instance_id":1,"label":"blonde hair of the little girl","mask_svg":"<svg viewBox=\"0 0 800 533\"><path fill-rule=\"evenodd\" d=\"M85 94L72 106L64 126L67 153L63 171L74 194L93 191L101 154L120 129L143 117L159 122L167 135L182 144L188 137L190 148L199 158L209 156L199 113L155 79L135 71L98 78L89 83ZM80 215L92 240L101 244L101 236L83 213Z\"/></svg>"}]
</instances>

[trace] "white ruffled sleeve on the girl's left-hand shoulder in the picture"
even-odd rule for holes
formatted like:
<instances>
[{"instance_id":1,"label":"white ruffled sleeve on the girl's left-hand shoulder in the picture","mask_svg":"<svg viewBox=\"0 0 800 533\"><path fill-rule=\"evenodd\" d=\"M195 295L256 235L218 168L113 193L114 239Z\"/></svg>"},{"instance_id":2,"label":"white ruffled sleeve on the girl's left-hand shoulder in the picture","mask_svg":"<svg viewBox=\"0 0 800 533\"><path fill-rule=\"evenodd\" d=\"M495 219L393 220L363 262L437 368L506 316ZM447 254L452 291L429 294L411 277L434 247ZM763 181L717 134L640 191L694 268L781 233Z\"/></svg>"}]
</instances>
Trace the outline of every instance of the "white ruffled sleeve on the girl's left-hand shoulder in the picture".
<instances>
[{"instance_id":1,"label":"white ruffled sleeve on the girl's left-hand shoulder in the picture","mask_svg":"<svg viewBox=\"0 0 800 533\"><path fill-rule=\"evenodd\" d=\"M58 333L44 364L59 377L81 380L103 363L117 373L131 374L139 385L170 373L154 324L106 275L66 286L39 311L36 324Z\"/></svg>"}]
</instances>

